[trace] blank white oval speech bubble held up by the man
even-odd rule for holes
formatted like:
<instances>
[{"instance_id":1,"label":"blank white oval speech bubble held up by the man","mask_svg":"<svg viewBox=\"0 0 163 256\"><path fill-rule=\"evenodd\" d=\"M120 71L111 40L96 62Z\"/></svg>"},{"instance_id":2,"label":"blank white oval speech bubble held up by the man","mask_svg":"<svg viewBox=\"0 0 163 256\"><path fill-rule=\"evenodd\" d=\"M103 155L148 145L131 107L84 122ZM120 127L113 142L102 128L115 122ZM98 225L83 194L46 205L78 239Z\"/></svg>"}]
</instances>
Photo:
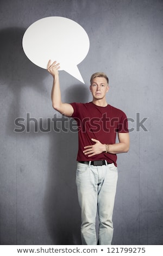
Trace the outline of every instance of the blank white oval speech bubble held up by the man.
<instances>
[{"instance_id":1,"label":"blank white oval speech bubble held up by the man","mask_svg":"<svg viewBox=\"0 0 163 256\"><path fill-rule=\"evenodd\" d=\"M47 69L49 59L60 63L60 70L83 82L77 65L89 52L89 36L77 22L65 17L46 17L30 25L23 35L24 53L35 65Z\"/></svg>"}]
</instances>

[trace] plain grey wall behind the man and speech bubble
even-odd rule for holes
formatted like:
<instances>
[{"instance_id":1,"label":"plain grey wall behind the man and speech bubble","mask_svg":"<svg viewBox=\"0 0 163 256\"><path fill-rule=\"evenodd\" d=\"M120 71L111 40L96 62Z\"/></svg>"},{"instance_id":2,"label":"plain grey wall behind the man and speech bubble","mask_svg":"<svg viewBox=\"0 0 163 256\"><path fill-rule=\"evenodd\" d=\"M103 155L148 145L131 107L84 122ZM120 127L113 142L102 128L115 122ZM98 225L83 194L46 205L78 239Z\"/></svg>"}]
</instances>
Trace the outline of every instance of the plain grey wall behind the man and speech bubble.
<instances>
[{"instance_id":1,"label":"plain grey wall behind the man and speech bubble","mask_svg":"<svg viewBox=\"0 0 163 256\"><path fill-rule=\"evenodd\" d=\"M113 245L162 245L161 0L0 1L1 245L81 243L77 132L52 108L52 77L21 45L26 29L47 16L78 22L90 38L78 65L86 84L60 71L62 99L90 101L90 75L104 71L108 102L129 118L130 151L118 155ZM22 132L14 131L17 118Z\"/></svg>"}]
</instances>

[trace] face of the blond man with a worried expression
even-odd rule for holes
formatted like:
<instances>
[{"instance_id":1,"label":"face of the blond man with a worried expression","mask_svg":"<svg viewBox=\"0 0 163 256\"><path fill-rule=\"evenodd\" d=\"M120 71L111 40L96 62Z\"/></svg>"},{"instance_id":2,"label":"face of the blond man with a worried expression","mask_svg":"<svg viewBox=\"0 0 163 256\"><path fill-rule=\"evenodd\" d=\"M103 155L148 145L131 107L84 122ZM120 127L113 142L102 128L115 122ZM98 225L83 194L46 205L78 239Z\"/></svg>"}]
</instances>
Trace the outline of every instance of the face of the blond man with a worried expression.
<instances>
[{"instance_id":1,"label":"face of the blond man with a worried expression","mask_svg":"<svg viewBox=\"0 0 163 256\"><path fill-rule=\"evenodd\" d=\"M90 85L90 91L93 99L100 100L104 99L106 93L109 90L108 83L104 77L95 77Z\"/></svg>"}]
</instances>

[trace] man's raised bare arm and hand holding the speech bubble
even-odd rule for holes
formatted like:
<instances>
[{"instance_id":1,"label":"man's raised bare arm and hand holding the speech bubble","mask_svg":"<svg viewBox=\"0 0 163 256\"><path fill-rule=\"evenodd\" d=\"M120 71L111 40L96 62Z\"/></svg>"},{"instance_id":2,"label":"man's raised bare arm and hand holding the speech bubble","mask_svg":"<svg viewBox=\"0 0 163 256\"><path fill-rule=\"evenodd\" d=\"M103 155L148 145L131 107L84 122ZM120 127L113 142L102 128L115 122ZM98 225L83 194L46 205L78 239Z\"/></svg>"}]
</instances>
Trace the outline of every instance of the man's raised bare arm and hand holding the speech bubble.
<instances>
[{"instance_id":1,"label":"man's raised bare arm and hand holding the speech bubble","mask_svg":"<svg viewBox=\"0 0 163 256\"><path fill-rule=\"evenodd\" d=\"M48 72L53 76L53 87L52 87L52 105L55 110L61 114L71 117L73 114L73 107L71 104L62 103L61 101L61 92L60 92L60 83L59 83L59 72L60 68L59 63L56 61L51 64L51 60L48 62Z\"/></svg>"}]
</instances>

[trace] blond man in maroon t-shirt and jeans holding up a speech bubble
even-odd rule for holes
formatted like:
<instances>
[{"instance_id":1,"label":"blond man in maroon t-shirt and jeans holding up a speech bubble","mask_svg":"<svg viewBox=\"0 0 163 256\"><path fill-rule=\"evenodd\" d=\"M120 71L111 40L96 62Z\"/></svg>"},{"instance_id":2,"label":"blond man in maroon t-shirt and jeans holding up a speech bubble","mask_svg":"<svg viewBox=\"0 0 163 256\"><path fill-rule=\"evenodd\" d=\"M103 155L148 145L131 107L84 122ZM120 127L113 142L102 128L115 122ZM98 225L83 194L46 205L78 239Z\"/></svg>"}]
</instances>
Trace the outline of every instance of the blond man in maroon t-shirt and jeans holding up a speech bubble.
<instances>
[{"instance_id":1,"label":"blond man in maroon t-shirt and jeans holding up a speech bubble","mask_svg":"<svg viewBox=\"0 0 163 256\"><path fill-rule=\"evenodd\" d=\"M62 103L58 69L59 63L51 64L49 60L48 71L54 78L53 107L61 114L76 119L78 124L76 183L82 209L82 244L97 245L95 224L98 210L98 244L111 245L118 176L116 154L129 150L127 117L120 109L106 102L109 80L104 73L91 76L92 102Z\"/></svg>"}]
</instances>

